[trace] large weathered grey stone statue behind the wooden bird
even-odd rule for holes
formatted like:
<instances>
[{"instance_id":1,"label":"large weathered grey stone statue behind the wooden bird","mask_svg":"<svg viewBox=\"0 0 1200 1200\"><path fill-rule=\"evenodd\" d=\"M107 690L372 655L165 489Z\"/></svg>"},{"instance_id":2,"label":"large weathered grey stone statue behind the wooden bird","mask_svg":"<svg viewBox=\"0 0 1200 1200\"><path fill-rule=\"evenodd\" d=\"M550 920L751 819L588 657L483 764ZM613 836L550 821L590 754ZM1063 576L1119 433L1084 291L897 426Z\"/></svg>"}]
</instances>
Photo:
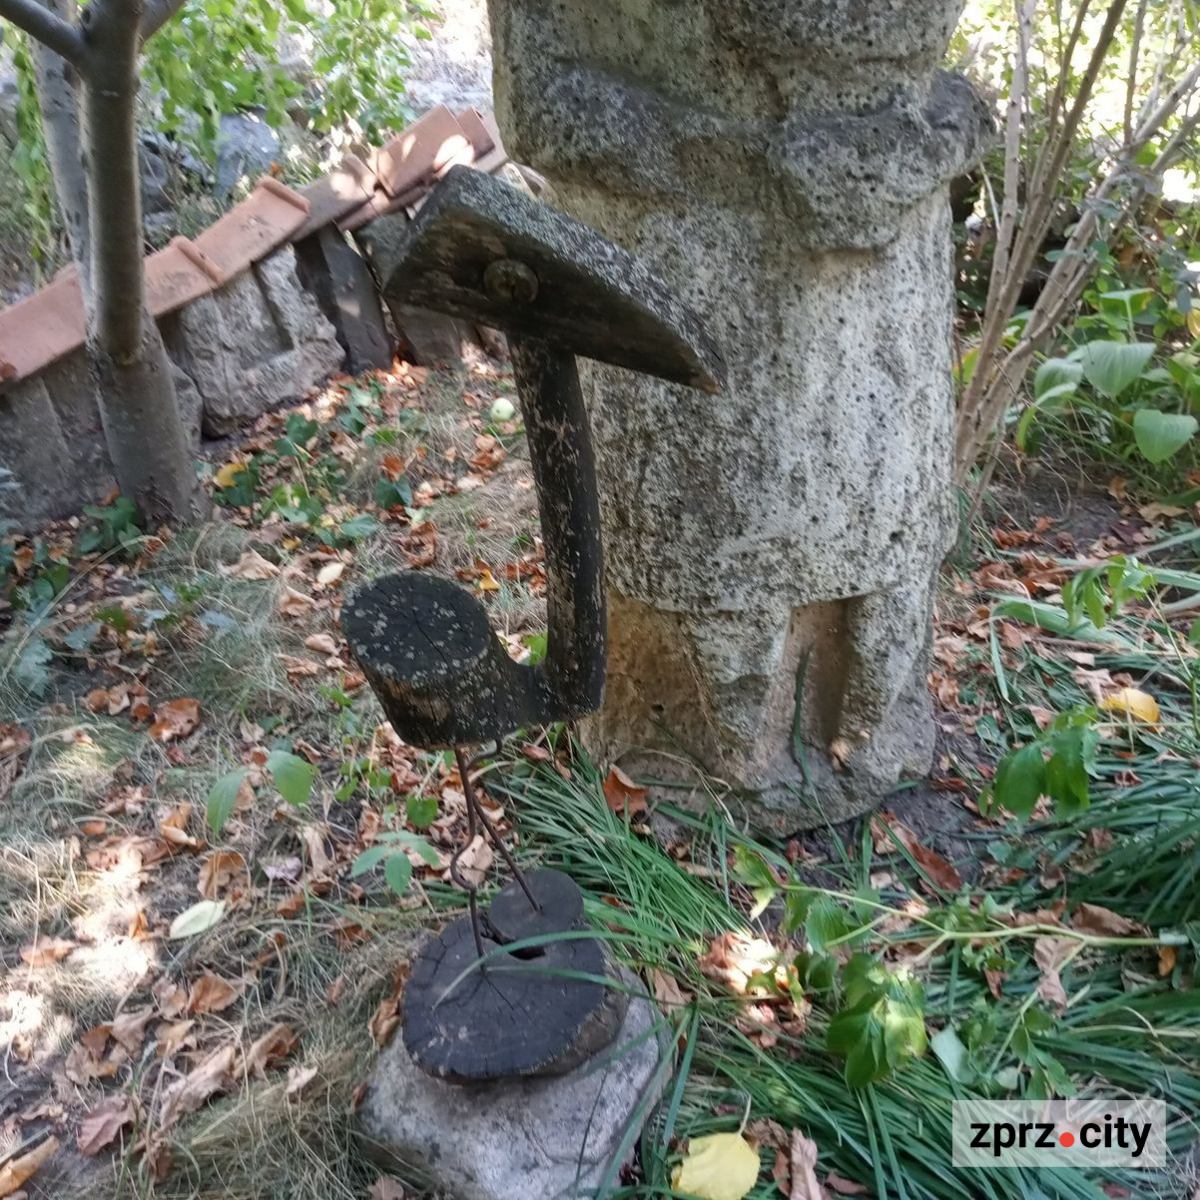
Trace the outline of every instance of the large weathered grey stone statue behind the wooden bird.
<instances>
[{"instance_id":1,"label":"large weathered grey stone statue behind the wooden bird","mask_svg":"<svg viewBox=\"0 0 1200 1200\"><path fill-rule=\"evenodd\" d=\"M586 737L646 778L698 766L775 832L931 762L946 185L989 128L936 70L960 6L614 0L598 23L587 0L491 0L505 145L677 287L730 366L715 400L586 373L610 586Z\"/></svg>"}]
</instances>

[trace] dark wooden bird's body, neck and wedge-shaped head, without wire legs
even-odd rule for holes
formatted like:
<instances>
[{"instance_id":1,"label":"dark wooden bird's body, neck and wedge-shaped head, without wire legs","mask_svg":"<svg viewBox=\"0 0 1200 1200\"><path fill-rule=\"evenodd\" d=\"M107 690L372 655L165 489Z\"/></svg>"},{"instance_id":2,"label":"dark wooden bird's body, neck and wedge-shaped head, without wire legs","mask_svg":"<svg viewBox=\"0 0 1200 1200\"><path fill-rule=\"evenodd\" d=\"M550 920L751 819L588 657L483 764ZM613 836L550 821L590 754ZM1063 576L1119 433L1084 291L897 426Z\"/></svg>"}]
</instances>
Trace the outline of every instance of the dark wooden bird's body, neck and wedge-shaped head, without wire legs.
<instances>
[{"instance_id":1,"label":"dark wooden bird's body, neck and wedge-shaped head, without wire legs","mask_svg":"<svg viewBox=\"0 0 1200 1200\"><path fill-rule=\"evenodd\" d=\"M478 172L451 170L410 224L384 224L366 246L391 300L509 334L541 514L548 637L544 665L517 666L474 598L394 576L347 605L350 650L392 727L416 745L482 743L594 712L607 628L575 354L709 390L720 355L635 258Z\"/></svg>"}]
</instances>

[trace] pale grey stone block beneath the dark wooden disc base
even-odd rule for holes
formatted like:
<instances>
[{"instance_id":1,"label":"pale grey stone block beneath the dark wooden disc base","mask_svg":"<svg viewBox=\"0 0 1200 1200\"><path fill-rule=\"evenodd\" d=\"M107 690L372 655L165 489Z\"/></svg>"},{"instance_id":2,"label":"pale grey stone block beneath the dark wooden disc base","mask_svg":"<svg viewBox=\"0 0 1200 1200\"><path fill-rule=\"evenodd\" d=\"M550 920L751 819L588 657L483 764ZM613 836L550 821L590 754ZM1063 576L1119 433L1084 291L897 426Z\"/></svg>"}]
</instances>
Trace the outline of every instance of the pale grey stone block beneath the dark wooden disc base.
<instances>
[{"instance_id":1,"label":"pale grey stone block beneath the dark wooden disc base","mask_svg":"<svg viewBox=\"0 0 1200 1200\"><path fill-rule=\"evenodd\" d=\"M626 1134L646 1122L668 1074L652 1032L661 1018L636 977L623 979L638 995L617 1039L556 1079L446 1084L396 1038L359 1109L366 1151L404 1182L454 1200L594 1195L622 1146L631 1152L636 1135Z\"/></svg>"}]
</instances>

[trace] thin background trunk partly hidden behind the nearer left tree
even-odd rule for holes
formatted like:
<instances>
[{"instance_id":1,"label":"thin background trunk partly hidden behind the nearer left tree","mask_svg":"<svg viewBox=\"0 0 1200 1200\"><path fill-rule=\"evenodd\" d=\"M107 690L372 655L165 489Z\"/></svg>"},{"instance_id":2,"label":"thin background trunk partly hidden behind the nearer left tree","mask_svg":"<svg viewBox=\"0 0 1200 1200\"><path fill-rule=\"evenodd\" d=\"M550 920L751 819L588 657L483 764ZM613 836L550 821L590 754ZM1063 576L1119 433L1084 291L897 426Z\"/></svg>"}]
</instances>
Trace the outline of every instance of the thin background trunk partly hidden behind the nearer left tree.
<instances>
[{"instance_id":1,"label":"thin background trunk partly hidden behind the nearer left tree","mask_svg":"<svg viewBox=\"0 0 1200 1200\"><path fill-rule=\"evenodd\" d=\"M74 24L74 0L42 0L55 16ZM36 38L29 40L42 114L42 133L50 161L50 178L71 257L88 270L88 180L79 148L79 73Z\"/></svg>"}]
</instances>

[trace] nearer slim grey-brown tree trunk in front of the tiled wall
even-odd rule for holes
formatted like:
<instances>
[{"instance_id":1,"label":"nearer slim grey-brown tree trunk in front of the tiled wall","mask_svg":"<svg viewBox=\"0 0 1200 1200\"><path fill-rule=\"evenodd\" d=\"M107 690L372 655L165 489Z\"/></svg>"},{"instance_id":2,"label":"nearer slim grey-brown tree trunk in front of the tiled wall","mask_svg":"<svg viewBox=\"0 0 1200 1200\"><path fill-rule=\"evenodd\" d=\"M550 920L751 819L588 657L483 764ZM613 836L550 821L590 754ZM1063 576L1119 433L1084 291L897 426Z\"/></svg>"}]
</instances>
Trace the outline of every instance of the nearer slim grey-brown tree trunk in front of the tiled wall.
<instances>
[{"instance_id":1,"label":"nearer slim grey-brown tree trunk in front of the tiled wall","mask_svg":"<svg viewBox=\"0 0 1200 1200\"><path fill-rule=\"evenodd\" d=\"M140 19L139 0L91 0L82 14L89 48L83 79L88 350L121 492L148 522L186 522L205 504L170 361L146 311L136 124Z\"/></svg>"}]
</instances>

